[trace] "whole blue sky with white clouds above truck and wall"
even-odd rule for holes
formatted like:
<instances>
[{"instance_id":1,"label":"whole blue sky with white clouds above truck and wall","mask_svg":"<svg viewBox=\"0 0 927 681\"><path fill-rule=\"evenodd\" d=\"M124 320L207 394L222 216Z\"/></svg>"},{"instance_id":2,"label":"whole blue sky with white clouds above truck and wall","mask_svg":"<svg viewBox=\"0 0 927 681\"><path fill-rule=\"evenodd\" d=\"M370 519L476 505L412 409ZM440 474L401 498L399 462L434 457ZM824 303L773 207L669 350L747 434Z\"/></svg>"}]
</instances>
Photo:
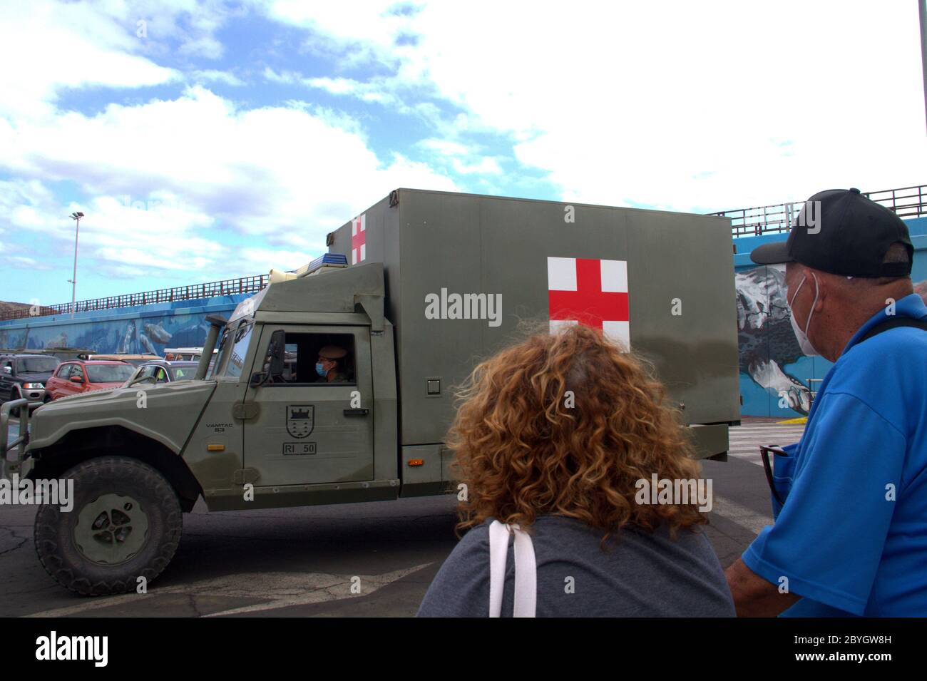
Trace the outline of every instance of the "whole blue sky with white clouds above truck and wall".
<instances>
[{"instance_id":1,"label":"whole blue sky with white clouds above truck and wall","mask_svg":"<svg viewBox=\"0 0 927 681\"><path fill-rule=\"evenodd\" d=\"M0 299L295 268L396 187L710 212L925 180L917 4L5 0Z\"/></svg>"}]
</instances>

